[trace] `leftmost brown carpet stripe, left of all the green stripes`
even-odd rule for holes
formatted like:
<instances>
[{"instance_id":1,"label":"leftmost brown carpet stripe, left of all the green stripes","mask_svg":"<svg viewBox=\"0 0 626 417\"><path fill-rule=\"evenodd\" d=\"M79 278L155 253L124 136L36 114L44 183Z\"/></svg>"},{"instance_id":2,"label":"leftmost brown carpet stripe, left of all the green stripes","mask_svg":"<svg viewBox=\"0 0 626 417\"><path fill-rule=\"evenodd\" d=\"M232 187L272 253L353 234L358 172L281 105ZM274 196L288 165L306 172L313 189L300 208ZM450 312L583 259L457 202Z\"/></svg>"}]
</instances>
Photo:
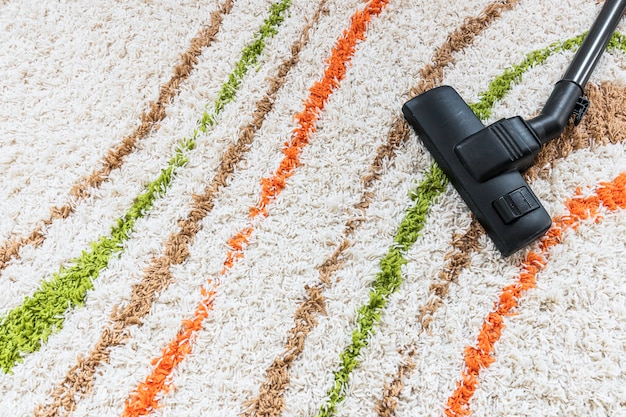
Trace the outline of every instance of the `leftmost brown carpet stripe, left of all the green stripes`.
<instances>
[{"instance_id":1,"label":"leftmost brown carpet stripe, left of all the green stripes","mask_svg":"<svg viewBox=\"0 0 626 417\"><path fill-rule=\"evenodd\" d=\"M87 198L93 189L99 188L111 172L118 169L124 163L124 158L131 154L137 146L137 142L145 138L153 129L158 128L159 122L165 119L165 107L178 94L180 84L184 82L198 63L198 57L202 54L202 48L206 48L215 40L224 16L233 8L234 0L225 0L217 10L211 13L211 22L203 27L191 40L189 49L180 56L180 62L174 67L172 77L159 89L159 97L156 102L150 102L150 110L141 115L141 123L135 130L126 136L115 147L110 149L104 156L102 166L88 176L81 179L70 190L70 199L65 205L52 207L50 217L40 220L39 226L30 235L13 236L0 244L0 271L6 268L11 259L19 258L19 251L26 245L40 246L46 239L46 228L56 219L65 219L76 209L76 205Z\"/></svg>"}]
</instances>

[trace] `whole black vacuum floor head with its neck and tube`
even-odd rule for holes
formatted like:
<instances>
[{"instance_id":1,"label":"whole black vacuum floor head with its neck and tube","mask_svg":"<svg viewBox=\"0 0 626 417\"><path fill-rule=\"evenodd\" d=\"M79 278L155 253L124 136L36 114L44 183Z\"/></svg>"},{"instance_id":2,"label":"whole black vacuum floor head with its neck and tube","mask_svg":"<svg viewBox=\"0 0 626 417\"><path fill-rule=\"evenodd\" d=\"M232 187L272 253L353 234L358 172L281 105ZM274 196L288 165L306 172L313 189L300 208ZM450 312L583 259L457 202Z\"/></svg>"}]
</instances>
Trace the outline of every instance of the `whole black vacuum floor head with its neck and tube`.
<instances>
[{"instance_id":1,"label":"whole black vacuum floor head with its neck and tube","mask_svg":"<svg viewBox=\"0 0 626 417\"><path fill-rule=\"evenodd\" d=\"M521 172L541 146L558 137L589 101L583 89L611 39L626 0L607 0L539 116L502 119L485 127L450 86L406 102L402 112L504 256L542 236L550 215Z\"/></svg>"}]
</instances>

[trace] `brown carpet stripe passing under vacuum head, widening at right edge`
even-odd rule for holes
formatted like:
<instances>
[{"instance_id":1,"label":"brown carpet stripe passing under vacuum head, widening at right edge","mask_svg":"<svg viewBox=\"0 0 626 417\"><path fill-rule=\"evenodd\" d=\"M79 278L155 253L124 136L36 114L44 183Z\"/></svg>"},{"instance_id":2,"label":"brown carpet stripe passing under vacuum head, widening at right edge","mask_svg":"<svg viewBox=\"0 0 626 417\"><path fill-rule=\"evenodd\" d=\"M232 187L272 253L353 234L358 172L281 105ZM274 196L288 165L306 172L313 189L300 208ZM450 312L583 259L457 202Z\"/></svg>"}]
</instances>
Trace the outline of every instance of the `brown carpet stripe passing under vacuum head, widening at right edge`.
<instances>
[{"instance_id":1,"label":"brown carpet stripe passing under vacuum head, widening at right edge","mask_svg":"<svg viewBox=\"0 0 626 417\"><path fill-rule=\"evenodd\" d=\"M555 162L576 150L626 141L626 88L604 82L599 86L588 84L585 91L591 106L582 122L578 126L569 124L558 138L543 147L535 164L524 173L526 181L546 179ZM448 295L450 284L457 282L461 272L470 266L471 256L478 250L478 239L484 233L482 226L473 218L464 234L452 238L452 249L444 257L447 262L439 273L439 280L431 284L428 301L419 308L418 320L422 330L428 331L434 313ZM398 365L391 382L385 383L383 397L377 404L379 416L394 414L404 388L403 381L415 368L413 356L407 355L404 362Z\"/></svg>"}]
</instances>

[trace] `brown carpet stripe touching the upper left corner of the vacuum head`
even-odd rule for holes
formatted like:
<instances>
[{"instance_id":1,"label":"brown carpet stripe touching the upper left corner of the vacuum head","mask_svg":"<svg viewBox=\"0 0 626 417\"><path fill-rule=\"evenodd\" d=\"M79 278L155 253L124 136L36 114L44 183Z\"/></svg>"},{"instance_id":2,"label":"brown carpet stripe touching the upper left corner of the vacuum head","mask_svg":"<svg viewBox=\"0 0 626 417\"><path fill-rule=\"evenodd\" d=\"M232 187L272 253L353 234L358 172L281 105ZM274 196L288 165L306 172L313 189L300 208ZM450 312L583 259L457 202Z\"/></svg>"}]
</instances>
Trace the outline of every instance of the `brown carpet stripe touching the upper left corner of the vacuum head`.
<instances>
[{"instance_id":1,"label":"brown carpet stripe touching the upper left corner of the vacuum head","mask_svg":"<svg viewBox=\"0 0 626 417\"><path fill-rule=\"evenodd\" d=\"M409 95L413 97L439 85L443 79L444 68L454 62L452 54L471 45L477 35L500 17L503 11L513 8L517 1L491 3L477 17L466 19L464 24L453 31L446 42L436 50L433 63L420 71L422 79L410 90ZM383 161L392 161L395 158L396 149L408 138L408 124L402 117L395 117L387 135L387 142L378 148L369 173L362 179L365 191L355 208L363 215L374 197L371 188L380 179ZM287 333L283 352L274 358L267 368L265 381L261 384L258 396L246 402L246 410L241 414L242 417L277 417L282 413L285 406L284 392L289 385L291 365L304 351L307 335L318 324L317 317L325 313L326 301L322 292L332 285L330 277L334 271L341 268L344 262L344 251L352 245L349 237L363 222L364 216L361 216L346 223L341 244L319 267L319 282L314 286L305 287L307 297L296 309L294 326Z\"/></svg>"}]
</instances>

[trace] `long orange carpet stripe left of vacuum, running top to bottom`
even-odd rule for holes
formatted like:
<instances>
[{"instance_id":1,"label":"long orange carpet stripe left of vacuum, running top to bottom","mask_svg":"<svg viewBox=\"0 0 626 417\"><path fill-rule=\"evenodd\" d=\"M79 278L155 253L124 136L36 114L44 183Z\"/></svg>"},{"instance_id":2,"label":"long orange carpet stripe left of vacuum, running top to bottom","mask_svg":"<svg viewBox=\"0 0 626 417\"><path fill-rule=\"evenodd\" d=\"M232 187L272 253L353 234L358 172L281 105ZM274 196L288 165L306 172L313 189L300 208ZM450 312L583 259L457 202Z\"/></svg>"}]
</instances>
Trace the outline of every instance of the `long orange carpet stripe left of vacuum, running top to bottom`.
<instances>
[{"instance_id":1,"label":"long orange carpet stripe left of vacuum, running top to bottom","mask_svg":"<svg viewBox=\"0 0 626 417\"><path fill-rule=\"evenodd\" d=\"M285 143L283 148L285 157L274 174L261 181L261 197L259 203L250 208L251 220L258 215L267 217L267 206L286 187L286 180L300 165L299 155L309 143L311 134L315 132L315 123L319 115L328 98L345 78L357 42L365 40L367 23L372 17L380 14L388 1L372 0L362 11L359 10L353 14L350 26L344 30L332 49L322 79L315 82L309 89L304 109L295 115L298 126L293 130L291 140ZM253 231L252 226L246 226L229 240L231 250L227 254L222 274L225 274L238 259L243 257L243 250L249 243ZM204 319L213 309L213 298L218 286L218 282L210 279L207 281L206 288L213 288L213 290L202 288L202 299L196 307L193 318L183 321L177 336L163 349L160 357L152 360L155 368L126 401L123 417L143 416L159 406L158 398L170 389L173 370L182 363L187 354L191 353L194 335L202 328Z\"/></svg>"}]
</instances>

